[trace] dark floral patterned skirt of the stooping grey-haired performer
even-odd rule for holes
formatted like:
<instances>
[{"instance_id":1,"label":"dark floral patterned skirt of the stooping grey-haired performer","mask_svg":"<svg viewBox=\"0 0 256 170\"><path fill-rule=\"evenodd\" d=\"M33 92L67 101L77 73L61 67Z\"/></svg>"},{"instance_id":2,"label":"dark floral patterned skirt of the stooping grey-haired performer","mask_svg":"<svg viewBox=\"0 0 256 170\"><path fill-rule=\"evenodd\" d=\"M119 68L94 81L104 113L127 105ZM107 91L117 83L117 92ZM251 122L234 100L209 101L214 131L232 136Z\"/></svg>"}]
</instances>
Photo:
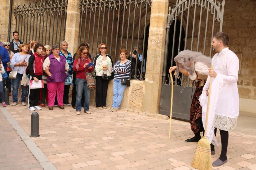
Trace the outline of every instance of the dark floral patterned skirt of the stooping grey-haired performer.
<instances>
[{"instance_id":1,"label":"dark floral patterned skirt of the stooping grey-haired performer","mask_svg":"<svg viewBox=\"0 0 256 170\"><path fill-rule=\"evenodd\" d=\"M204 86L199 86L200 82L196 82L196 91L194 93L191 108L190 108L190 127L191 130L196 134L199 130L203 131L203 122L202 122L202 106L199 102L199 97L203 92Z\"/></svg>"}]
</instances>

